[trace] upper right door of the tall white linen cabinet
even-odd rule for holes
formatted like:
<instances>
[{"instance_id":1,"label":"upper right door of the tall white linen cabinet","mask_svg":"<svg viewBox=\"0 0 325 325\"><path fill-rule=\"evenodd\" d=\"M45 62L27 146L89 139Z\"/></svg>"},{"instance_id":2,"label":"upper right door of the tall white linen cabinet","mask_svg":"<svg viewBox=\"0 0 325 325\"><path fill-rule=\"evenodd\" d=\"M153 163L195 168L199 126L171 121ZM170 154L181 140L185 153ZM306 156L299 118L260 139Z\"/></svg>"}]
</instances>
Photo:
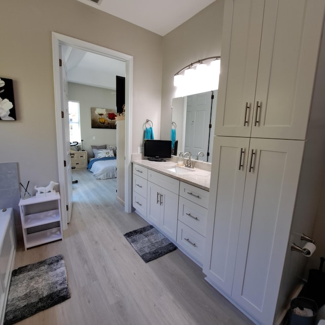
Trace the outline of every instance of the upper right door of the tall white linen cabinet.
<instances>
[{"instance_id":1,"label":"upper right door of the tall white linen cabinet","mask_svg":"<svg viewBox=\"0 0 325 325\"><path fill-rule=\"evenodd\" d=\"M266 1L251 137L306 138L324 6Z\"/></svg>"}]
</instances>

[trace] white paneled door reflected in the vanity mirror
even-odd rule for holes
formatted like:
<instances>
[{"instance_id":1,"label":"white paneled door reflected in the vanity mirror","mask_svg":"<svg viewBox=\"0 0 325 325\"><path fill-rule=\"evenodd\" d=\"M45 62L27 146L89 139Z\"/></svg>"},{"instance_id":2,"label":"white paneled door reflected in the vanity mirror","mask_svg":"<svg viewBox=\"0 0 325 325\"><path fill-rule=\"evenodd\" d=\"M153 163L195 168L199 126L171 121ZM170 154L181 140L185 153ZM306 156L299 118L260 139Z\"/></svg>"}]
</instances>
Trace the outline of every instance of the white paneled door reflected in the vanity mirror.
<instances>
[{"instance_id":1,"label":"white paneled door reflected in the vanity mirror","mask_svg":"<svg viewBox=\"0 0 325 325\"><path fill-rule=\"evenodd\" d=\"M204 152L205 161L209 149L211 94L211 91L207 91L187 96L186 107L184 150L190 151L193 158L196 158L200 151Z\"/></svg>"}]
</instances>

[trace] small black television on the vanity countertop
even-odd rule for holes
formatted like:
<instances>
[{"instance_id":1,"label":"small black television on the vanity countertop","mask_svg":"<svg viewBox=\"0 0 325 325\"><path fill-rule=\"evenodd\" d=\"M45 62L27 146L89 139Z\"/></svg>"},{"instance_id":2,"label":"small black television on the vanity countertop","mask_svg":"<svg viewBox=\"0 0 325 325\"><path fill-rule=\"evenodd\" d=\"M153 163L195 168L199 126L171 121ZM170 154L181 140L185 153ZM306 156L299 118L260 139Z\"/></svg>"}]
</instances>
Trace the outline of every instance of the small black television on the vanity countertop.
<instances>
[{"instance_id":1,"label":"small black television on the vanity countertop","mask_svg":"<svg viewBox=\"0 0 325 325\"><path fill-rule=\"evenodd\" d=\"M166 161L172 157L172 140L145 140L144 156L151 161Z\"/></svg>"}]
</instances>

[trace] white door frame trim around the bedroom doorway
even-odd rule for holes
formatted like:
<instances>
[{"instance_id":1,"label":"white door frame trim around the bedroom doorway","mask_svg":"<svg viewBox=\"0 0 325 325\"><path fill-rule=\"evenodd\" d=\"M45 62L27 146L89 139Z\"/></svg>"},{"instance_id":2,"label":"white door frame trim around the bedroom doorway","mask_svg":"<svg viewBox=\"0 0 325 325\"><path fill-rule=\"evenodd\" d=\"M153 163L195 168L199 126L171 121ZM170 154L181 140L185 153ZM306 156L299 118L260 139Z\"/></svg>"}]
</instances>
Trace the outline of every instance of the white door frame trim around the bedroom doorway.
<instances>
[{"instance_id":1,"label":"white door frame trim around the bedroom doorway","mask_svg":"<svg viewBox=\"0 0 325 325\"><path fill-rule=\"evenodd\" d=\"M132 212L132 90L133 90L133 56L108 49L103 46L81 41L66 35L52 31L52 52L53 52L53 77L54 77L54 102L56 121L56 144L58 161L58 178L61 192L61 214L63 230L68 229L67 209L66 209L66 188L64 186L64 166L63 166L63 131L61 125L61 99L60 99L60 78L59 78L59 45L72 46L87 52L92 52L108 56L125 62L125 199L124 211Z\"/></svg>"}]
</instances>

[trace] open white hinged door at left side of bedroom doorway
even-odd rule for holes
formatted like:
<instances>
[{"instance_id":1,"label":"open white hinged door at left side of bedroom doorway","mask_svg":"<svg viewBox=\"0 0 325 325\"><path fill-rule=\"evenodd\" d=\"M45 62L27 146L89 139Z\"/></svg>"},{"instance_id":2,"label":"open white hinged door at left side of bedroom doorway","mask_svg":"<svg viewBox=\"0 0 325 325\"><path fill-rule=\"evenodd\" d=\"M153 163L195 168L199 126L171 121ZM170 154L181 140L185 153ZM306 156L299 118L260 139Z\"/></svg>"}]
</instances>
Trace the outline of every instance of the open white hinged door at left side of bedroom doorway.
<instances>
[{"instance_id":1,"label":"open white hinged door at left side of bedroom doorway","mask_svg":"<svg viewBox=\"0 0 325 325\"><path fill-rule=\"evenodd\" d=\"M62 138L63 138L63 159L64 164L64 187L60 186L61 196L66 198L66 207L61 207L62 213L67 213L67 222L71 220L72 212L72 172L71 172L71 156L70 156L70 132L69 132L69 108L68 108L68 77L66 64L62 56L62 47L59 46L60 55L60 90L61 90L61 109L62 109ZM63 162L62 162L63 164ZM67 211L67 212L65 212Z\"/></svg>"}]
</instances>

